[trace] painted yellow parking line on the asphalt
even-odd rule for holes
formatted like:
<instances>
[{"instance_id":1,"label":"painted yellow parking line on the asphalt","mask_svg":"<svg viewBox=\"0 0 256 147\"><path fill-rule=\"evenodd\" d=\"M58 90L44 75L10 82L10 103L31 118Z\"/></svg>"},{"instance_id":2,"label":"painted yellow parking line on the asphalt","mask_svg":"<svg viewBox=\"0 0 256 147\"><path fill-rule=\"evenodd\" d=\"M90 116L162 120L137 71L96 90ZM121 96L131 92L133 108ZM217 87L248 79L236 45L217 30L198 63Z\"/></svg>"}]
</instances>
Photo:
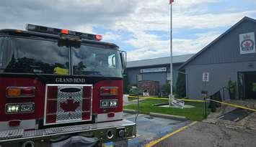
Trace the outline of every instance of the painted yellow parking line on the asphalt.
<instances>
[{"instance_id":1,"label":"painted yellow parking line on the asphalt","mask_svg":"<svg viewBox=\"0 0 256 147\"><path fill-rule=\"evenodd\" d=\"M159 138L159 139L156 139L155 141L151 141L150 143L147 143L144 147L151 147L151 146L154 146L154 145L156 145L156 143L159 143L160 141L163 141L164 139L169 138L170 136L173 136L173 135L175 135L176 133L179 133L180 131L183 131L183 130L185 130L186 128L188 128L188 127L190 127L190 126L195 125L195 123L198 123L198 122L197 122L197 121L194 121L193 123L190 123L190 124L188 124L188 125L185 125L185 126L183 126L182 128L179 128L179 129L177 129L176 131L173 131L172 133L169 133L169 134L163 136L162 138Z\"/></svg>"}]
</instances>

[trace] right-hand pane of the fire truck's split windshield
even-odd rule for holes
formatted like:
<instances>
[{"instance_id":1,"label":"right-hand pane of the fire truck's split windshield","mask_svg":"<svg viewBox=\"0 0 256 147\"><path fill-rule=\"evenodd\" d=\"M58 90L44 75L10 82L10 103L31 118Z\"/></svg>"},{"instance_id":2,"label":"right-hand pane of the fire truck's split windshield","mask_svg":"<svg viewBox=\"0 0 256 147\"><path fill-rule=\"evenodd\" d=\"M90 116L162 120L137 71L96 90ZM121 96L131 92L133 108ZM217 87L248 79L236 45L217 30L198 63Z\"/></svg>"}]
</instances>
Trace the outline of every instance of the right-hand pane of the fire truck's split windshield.
<instances>
[{"instance_id":1,"label":"right-hand pane of the fire truck's split windshield","mask_svg":"<svg viewBox=\"0 0 256 147\"><path fill-rule=\"evenodd\" d=\"M82 44L72 49L74 75L122 77L118 50Z\"/></svg>"}]
</instances>

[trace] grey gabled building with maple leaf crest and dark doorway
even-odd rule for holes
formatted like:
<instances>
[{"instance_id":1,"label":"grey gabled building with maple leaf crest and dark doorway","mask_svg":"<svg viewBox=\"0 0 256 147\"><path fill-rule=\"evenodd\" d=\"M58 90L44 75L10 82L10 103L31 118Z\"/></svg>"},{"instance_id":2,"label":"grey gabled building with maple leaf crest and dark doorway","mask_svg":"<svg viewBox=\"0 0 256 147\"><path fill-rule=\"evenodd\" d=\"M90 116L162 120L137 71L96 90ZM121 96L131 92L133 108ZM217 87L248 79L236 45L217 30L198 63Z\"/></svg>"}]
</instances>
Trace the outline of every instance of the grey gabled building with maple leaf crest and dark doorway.
<instances>
[{"instance_id":1,"label":"grey gabled building with maple leaf crest and dark doorway","mask_svg":"<svg viewBox=\"0 0 256 147\"><path fill-rule=\"evenodd\" d=\"M244 17L187 60L180 67L187 74L187 97L200 99L202 90L211 95L231 80L236 98L256 99L255 32L256 20Z\"/></svg>"}]
</instances>

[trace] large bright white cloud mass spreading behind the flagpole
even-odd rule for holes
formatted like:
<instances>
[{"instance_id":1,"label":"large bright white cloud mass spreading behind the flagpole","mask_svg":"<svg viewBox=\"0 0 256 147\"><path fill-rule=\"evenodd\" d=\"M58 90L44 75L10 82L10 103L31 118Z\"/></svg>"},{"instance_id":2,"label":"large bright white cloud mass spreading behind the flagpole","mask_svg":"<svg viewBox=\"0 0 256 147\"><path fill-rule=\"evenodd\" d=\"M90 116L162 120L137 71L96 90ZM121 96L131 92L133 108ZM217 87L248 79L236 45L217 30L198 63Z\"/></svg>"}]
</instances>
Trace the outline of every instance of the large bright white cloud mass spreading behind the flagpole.
<instances>
[{"instance_id":1,"label":"large bright white cloud mass spreading behind the flagpole","mask_svg":"<svg viewBox=\"0 0 256 147\"><path fill-rule=\"evenodd\" d=\"M134 49L128 52L128 60L141 60L152 57L163 57L169 55L169 40L161 39L157 34L150 34L150 31L163 31L169 34L169 6L165 3L149 2L139 3L136 11L130 14L128 21L116 22L111 29L128 29L133 33L133 39L126 41ZM194 2L194 3L193 3ZM212 1L182 1L174 5L173 31L179 32L184 29L205 29L203 34L197 34L191 39L173 39L173 53L187 54L195 53L209 44L222 32L213 32L211 29L219 27L231 27L242 19L243 16L255 16L256 11L236 11L225 13L203 13L200 6ZM179 5L180 3L180 5ZM196 7L196 6L198 7ZM195 6L193 11L185 11ZM159 9L161 8L161 9ZM183 11L182 11L183 10Z\"/></svg>"}]
</instances>

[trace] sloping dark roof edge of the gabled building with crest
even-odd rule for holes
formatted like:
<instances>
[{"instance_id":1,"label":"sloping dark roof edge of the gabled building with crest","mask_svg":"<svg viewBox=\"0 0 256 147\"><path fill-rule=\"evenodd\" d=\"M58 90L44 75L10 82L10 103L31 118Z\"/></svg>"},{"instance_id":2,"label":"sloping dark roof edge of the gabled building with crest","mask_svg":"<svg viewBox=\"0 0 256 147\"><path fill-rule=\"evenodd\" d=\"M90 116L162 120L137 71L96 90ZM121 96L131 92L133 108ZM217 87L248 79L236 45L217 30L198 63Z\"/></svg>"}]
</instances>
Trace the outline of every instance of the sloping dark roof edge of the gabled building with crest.
<instances>
[{"instance_id":1,"label":"sloping dark roof edge of the gabled building with crest","mask_svg":"<svg viewBox=\"0 0 256 147\"><path fill-rule=\"evenodd\" d=\"M180 67L179 70L184 69L184 67L189 64L192 60L195 60L196 57L198 57L199 54L202 54L203 52L205 52L208 47L211 47L212 44L215 44L216 42L219 41L219 39L221 39L222 37L224 37L226 34L228 34L229 32L231 32L234 28L236 28L239 24L241 24L242 22L244 22L245 20L249 20L252 22L256 22L256 19L252 19L250 17L244 16L244 18L242 18L239 22L237 22L237 24L234 24L231 28L229 28L228 30L226 30L226 32L224 32L223 34L221 34L219 37L217 37L216 39L213 40L213 42L211 42L210 44L208 44L206 47L203 47L203 49L201 49L198 53L194 54L193 57L191 57L189 60L187 60L185 63L183 63Z\"/></svg>"}]
</instances>

